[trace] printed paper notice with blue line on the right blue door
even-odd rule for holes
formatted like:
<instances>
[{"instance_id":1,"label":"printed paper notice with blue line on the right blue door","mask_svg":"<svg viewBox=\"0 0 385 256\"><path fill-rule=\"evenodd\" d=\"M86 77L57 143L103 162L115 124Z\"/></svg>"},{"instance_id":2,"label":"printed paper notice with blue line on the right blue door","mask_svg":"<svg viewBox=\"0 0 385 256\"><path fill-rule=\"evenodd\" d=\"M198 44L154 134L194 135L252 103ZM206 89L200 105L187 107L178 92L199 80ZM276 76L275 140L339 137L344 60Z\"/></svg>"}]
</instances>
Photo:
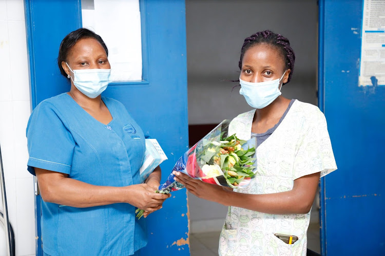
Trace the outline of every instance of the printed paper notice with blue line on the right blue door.
<instances>
[{"instance_id":1,"label":"printed paper notice with blue line on the right blue door","mask_svg":"<svg viewBox=\"0 0 385 256\"><path fill-rule=\"evenodd\" d=\"M360 86L385 86L385 1L364 0Z\"/></svg>"}]
</instances>

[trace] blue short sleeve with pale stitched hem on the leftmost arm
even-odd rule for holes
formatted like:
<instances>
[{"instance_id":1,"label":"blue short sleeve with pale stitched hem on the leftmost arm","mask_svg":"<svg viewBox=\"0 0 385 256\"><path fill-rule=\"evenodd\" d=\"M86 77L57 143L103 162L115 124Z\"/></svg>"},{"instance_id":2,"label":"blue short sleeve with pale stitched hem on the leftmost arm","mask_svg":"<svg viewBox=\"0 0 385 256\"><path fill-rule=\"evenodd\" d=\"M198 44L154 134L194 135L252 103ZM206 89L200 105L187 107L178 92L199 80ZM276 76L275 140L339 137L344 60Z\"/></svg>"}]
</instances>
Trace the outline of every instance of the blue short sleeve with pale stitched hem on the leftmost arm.
<instances>
[{"instance_id":1,"label":"blue short sleeve with pale stitched hem on the leftmost arm","mask_svg":"<svg viewBox=\"0 0 385 256\"><path fill-rule=\"evenodd\" d=\"M43 101L27 125L28 171L33 167L70 174L75 142L63 117L53 104Z\"/></svg>"}]
</instances>

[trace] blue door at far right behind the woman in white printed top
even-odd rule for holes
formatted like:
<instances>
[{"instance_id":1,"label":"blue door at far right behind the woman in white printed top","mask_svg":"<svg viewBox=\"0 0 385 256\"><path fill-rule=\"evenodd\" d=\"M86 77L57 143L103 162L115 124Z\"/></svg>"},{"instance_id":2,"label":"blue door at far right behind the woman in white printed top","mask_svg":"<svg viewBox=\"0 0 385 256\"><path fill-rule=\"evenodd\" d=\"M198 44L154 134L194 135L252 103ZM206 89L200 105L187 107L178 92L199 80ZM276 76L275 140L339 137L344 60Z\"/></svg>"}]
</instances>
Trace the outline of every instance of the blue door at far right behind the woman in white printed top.
<instances>
[{"instance_id":1,"label":"blue door at far right behind the woman in white printed top","mask_svg":"<svg viewBox=\"0 0 385 256\"><path fill-rule=\"evenodd\" d=\"M323 255L385 255L385 87L359 87L362 6L319 1L319 106L338 166L321 181Z\"/></svg>"}]
</instances>

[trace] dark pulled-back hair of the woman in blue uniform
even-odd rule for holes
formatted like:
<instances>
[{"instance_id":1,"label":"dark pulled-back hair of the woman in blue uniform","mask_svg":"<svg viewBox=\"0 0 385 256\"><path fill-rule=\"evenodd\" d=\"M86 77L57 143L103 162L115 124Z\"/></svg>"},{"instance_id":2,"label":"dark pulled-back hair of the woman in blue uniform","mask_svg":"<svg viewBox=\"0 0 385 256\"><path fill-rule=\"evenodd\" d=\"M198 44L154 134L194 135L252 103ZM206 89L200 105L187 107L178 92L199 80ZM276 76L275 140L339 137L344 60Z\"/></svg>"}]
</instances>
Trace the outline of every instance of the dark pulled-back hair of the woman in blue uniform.
<instances>
[{"instance_id":1,"label":"dark pulled-back hair of the woman in blue uniform","mask_svg":"<svg viewBox=\"0 0 385 256\"><path fill-rule=\"evenodd\" d=\"M59 66L60 73L62 73L62 75L64 75L65 77L67 77L67 74L62 68L62 61L67 61L67 55L71 48L76 44L76 42L85 38L94 38L98 42L100 42L108 56L107 46L106 44L104 44L104 41L102 37L100 37L100 35L94 33L89 29L84 28L72 31L71 33L66 35L66 37L64 37L64 39L62 40L59 48L59 56L57 56L57 66Z\"/></svg>"}]
</instances>

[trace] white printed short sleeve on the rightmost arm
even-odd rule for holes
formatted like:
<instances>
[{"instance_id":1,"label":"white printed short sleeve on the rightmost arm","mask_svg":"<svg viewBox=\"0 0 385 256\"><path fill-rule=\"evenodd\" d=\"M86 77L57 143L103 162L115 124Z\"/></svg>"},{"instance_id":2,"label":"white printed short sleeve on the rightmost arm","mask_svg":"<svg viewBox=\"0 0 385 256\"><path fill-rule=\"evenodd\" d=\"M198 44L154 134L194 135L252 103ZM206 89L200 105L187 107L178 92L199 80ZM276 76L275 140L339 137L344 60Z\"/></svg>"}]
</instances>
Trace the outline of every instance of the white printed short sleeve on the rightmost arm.
<instances>
[{"instance_id":1,"label":"white printed short sleeve on the rightmost arm","mask_svg":"<svg viewBox=\"0 0 385 256\"><path fill-rule=\"evenodd\" d=\"M294 179L321 173L321 177L337 169L325 116L317 109L304 125L305 132L297 145Z\"/></svg>"}]
</instances>

